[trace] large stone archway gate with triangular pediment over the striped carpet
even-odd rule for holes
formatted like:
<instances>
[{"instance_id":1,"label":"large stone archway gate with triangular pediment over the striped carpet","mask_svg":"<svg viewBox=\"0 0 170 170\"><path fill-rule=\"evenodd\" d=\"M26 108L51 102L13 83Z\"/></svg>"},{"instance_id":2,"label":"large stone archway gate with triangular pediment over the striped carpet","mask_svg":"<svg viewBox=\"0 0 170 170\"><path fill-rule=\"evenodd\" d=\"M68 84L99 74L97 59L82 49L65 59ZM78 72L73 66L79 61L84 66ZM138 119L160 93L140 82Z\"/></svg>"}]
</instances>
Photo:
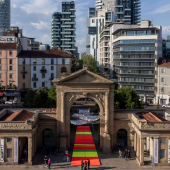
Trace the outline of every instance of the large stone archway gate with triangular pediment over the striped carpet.
<instances>
[{"instance_id":1,"label":"large stone archway gate with triangular pediment over the striped carpet","mask_svg":"<svg viewBox=\"0 0 170 170\"><path fill-rule=\"evenodd\" d=\"M91 98L100 107L100 149L111 152L114 136L114 82L82 69L54 79L57 85L57 145L70 148L70 109L79 98Z\"/></svg>"}]
</instances>

